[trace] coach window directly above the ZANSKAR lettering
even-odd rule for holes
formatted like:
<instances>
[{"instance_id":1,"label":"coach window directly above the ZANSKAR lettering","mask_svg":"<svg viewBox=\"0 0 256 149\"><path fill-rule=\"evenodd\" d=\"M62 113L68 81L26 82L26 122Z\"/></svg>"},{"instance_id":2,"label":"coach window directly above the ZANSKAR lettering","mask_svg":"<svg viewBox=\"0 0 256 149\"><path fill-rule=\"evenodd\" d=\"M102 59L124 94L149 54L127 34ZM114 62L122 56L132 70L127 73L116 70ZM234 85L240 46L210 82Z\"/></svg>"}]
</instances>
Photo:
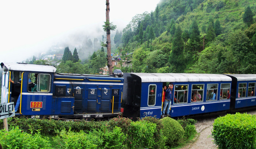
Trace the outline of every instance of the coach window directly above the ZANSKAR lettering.
<instances>
[{"instance_id":1,"label":"coach window directly above the ZANSKAR lettering","mask_svg":"<svg viewBox=\"0 0 256 149\"><path fill-rule=\"evenodd\" d=\"M203 90L204 90L203 84L192 85L191 102L203 101Z\"/></svg>"}]
</instances>

